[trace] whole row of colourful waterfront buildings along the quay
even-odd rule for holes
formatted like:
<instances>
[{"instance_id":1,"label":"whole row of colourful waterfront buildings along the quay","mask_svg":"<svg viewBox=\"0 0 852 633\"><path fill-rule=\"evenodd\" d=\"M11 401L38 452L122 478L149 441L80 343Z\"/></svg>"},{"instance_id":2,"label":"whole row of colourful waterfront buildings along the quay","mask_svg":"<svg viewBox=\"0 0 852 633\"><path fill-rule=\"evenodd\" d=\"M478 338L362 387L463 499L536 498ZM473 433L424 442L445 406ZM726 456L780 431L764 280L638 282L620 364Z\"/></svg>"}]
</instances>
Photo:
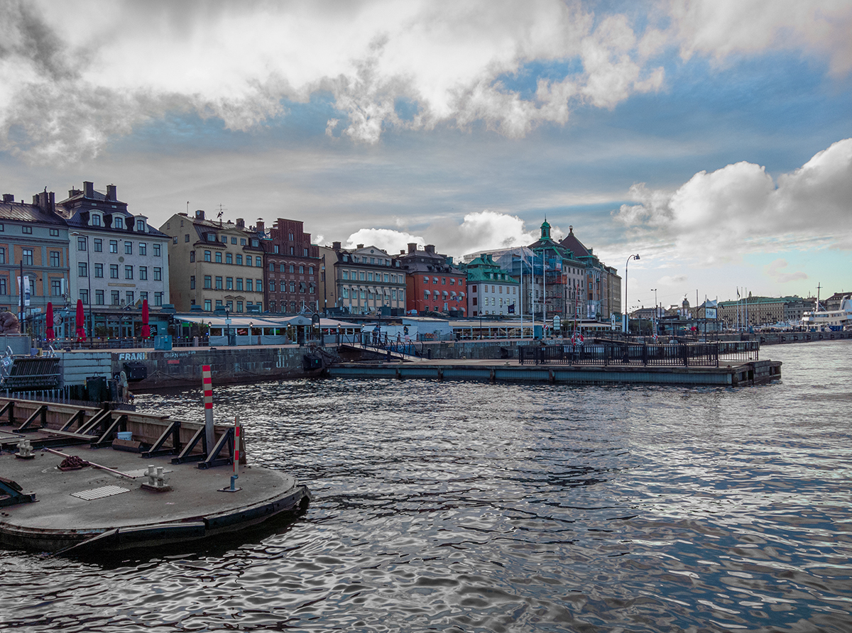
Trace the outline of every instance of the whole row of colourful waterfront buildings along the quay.
<instances>
[{"instance_id":1,"label":"whole row of colourful waterfront buildings along the quay","mask_svg":"<svg viewBox=\"0 0 852 633\"><path fill-rule=\"evenodd\" d=\"M528 246L482 251L453 262L435 245L389 253L375 245L312 244L303 223L266 227L176 213L160 227L93 182L56 201L3 194L0 310L59 310L57 329L78 300L95 336L132 337L143 301L177 312L295 314L532 315L609 319L620 314L621 280L571 232Z\"/></svg>"}]
</instances>

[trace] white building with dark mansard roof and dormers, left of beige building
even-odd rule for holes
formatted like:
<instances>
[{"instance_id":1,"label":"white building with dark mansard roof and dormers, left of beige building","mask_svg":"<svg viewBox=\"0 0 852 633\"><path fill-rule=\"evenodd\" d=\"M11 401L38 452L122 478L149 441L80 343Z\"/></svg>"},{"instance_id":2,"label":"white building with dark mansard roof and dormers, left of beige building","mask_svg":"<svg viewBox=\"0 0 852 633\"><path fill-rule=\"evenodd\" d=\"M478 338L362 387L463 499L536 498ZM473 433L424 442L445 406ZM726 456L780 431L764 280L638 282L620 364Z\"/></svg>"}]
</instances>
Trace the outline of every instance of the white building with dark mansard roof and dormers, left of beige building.
<instances>
[{"instance_id":1,"label":"white building with dark mansard roof and dormers, left of beige building","mask_svg":"<svg viewBox=\"0 0 852 633\"><path fill-rule=\"evenodd\" d=\"M169 302L169 237L127 207L115 185L100 192L89 181L58 207L70 239L69 294L93 311Z\"/></svg>"}]
</instances>

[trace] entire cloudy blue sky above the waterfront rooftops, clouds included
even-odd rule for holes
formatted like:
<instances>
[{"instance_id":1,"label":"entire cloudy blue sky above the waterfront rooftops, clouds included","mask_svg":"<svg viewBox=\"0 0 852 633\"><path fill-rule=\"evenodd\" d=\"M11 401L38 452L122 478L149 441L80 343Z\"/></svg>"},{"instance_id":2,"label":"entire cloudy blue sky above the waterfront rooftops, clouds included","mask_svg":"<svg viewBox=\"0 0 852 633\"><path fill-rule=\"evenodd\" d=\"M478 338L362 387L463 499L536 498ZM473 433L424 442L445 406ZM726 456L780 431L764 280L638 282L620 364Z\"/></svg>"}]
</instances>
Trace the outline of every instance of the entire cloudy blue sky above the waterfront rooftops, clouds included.
<instances>
[{"instance_id":1,"label":"entire cloudy blue sky above the waterfront rooftops, clouds included","mask_svg":"<svg viewBox=\"0 0 852 633\"><path fill-rule=\"evenodd\" d=\"M849 0L0 0L0 188L457 258L546 218L640 256L631 308L824 297L852 291L850 32Z\"/></svg>"}]
</instances>

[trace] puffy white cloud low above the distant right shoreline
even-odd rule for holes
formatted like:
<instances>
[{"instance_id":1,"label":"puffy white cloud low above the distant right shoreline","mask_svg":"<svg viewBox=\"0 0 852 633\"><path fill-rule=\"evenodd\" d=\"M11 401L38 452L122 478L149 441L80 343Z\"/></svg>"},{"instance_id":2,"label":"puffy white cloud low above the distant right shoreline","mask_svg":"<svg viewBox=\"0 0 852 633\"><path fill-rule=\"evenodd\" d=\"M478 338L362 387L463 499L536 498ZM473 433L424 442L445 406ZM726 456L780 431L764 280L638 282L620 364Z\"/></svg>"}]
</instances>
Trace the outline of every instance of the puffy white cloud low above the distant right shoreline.
<instances>
[{"instance_id":1,"label":"puffy white cloud low above the distant right shoreline","mask_svg":"<svg viewBox=\"0 0 852 633\"><path fill-rule=\"evenodd\" d=\"M730 259L768 246L852 249L852 139L778 177L746 162L700 171L676 191L630 187L617 221L634 237L673 239L682 254Z\"/></svg>"}]
</instances>

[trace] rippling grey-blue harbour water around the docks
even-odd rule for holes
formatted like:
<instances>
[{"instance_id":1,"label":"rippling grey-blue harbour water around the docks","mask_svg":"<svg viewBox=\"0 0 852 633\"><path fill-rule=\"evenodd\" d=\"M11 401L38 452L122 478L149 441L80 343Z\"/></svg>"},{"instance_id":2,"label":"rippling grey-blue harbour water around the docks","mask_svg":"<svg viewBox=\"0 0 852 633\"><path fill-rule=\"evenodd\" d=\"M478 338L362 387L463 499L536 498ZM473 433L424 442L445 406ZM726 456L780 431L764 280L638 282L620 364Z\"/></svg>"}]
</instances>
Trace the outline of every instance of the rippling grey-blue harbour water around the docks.
<instances>
[{"instance_id":1,"label":"rippling grey-blue harbour water around the docks","mask_svg":"<svg viewBox=\"0 0 852 633\"><path fill-rule=\"evenodd\" d=\"M782 383L215 388L308 513L145 560L0 551L0 629L852 630L852 343L763 356Z\"/></svg>"}]
</instances>

